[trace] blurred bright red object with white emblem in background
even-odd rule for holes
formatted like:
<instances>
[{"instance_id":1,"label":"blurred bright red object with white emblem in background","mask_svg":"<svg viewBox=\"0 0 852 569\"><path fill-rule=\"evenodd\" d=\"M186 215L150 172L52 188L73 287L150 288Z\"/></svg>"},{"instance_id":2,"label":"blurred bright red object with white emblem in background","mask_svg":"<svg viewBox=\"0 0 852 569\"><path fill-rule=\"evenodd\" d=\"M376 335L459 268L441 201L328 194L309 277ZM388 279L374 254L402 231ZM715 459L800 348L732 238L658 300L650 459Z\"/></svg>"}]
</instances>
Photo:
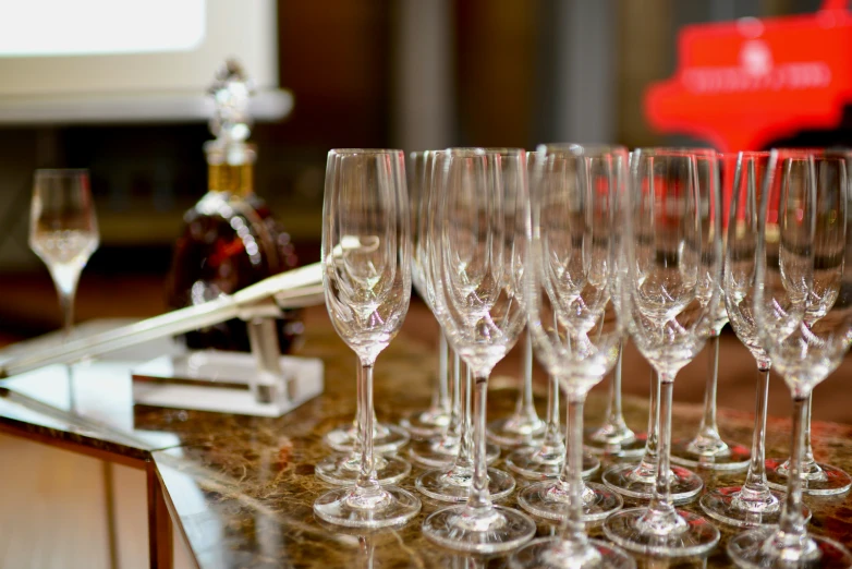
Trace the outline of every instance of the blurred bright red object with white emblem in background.
<instances>
[{"instance_id":1,"label":"blurred bright red object with white emblem in background","mask_svg":"<svg viewBox=\"0 0 852 569\"><path fill-rule=\"evenodd\" d=\"M684 27L674 76L645 94L652 128L721 152L837 128L852 105L848 8L848 0L825 0L814 14Z\"/></svg>"}]
</instances>

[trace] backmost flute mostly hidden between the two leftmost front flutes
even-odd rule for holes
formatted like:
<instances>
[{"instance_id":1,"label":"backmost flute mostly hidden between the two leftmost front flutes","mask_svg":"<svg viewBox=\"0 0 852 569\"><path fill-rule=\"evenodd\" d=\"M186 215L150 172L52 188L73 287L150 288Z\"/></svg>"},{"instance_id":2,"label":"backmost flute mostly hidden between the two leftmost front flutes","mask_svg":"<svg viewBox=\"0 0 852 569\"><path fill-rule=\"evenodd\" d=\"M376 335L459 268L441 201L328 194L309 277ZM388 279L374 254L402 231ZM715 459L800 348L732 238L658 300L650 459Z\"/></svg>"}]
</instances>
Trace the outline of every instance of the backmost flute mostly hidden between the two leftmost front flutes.
<instances>
[{"instance_id":1,"label":"backmost flute mostly hidden between the two leftmost front flutes","mask_svg":"<svg viewBox=\"0 0 852 569\"><path fill-rule=\"evenodd\" d=\"M412 230L412 266L411 281L414 290L421 295L427 304L429 293L428 283L424 276L423 252L425 251L422 228L425 226L423 219L424 194L431 180L431 160L433 153L424 150L411 153L409 155L409 206L411 207L411 230ZM400 425L413 436L428 437L440 434L450 425L451 399L449 389L449 346L443 332L440 332L438 340L438 376L436 378L435 391L431 396L431 404L428 409L411 413L400 421Z\"/></svg>"}]
</instances>

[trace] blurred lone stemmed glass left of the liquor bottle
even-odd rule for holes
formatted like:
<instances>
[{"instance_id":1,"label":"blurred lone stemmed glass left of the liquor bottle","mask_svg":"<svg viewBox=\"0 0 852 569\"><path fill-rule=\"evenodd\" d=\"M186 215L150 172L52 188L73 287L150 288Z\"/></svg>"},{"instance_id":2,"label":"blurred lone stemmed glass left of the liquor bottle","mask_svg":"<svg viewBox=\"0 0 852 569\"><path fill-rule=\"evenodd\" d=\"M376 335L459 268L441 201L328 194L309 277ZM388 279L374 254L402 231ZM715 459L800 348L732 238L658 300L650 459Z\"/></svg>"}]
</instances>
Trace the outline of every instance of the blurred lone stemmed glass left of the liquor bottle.
<instances>
[{"instance_id":1,"label":"blurred lone stemmed glass left of the liquor bottle","mask_svg":"<svg viewBox=\"0 0 852 569\"><path fill-rule=\"evenodd\" d=\"M100 241L88 170L36 170L29 209L29 247L47 265L59 294L65 337L83 267Z\"/></svg>"}]
</instances>

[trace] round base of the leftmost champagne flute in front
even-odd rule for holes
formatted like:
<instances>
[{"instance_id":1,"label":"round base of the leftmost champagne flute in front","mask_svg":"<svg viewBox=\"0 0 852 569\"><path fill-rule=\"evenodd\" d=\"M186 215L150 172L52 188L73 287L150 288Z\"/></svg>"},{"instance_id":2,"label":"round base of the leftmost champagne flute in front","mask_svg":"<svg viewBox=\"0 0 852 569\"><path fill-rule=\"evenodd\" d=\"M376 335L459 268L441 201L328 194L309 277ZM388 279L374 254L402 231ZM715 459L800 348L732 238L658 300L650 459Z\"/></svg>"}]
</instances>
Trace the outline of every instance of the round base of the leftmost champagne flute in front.
<instances>
[{"instance_id":1,"label":"round base of the leftmost champagne flute in front","mask_svg":"<svg viewBox=\"0 0 852 569\"><path fill-rule=\"evenodd\" d=\"M362 499L357 488L337 488L314 503L314 514L322 521L346 528L399 525L421 511L421 500L397 486L382 486L376 498Z\"/></svg>"}]
</instances>

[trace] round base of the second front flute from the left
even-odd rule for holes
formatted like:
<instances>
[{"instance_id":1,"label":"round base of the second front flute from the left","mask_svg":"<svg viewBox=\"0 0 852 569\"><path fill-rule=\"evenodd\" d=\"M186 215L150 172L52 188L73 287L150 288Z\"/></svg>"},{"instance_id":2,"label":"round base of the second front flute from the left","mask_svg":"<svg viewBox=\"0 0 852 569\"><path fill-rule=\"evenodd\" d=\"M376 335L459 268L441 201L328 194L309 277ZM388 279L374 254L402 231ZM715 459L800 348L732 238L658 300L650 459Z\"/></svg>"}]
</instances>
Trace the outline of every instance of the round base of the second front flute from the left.
<instances>
[{"instance_id":1,"label":"round base of the second front flute from the left","mask_svg":"<svg viewBox=\"0 0 852 569\"><path fill-rule=\"evenodd\" d=\"M502 506L480 510L452 506L423 522L427 540L450 549L483 554L514 549L532 540L535 532L533 520Z\"/></svg>"}]
</instances>

